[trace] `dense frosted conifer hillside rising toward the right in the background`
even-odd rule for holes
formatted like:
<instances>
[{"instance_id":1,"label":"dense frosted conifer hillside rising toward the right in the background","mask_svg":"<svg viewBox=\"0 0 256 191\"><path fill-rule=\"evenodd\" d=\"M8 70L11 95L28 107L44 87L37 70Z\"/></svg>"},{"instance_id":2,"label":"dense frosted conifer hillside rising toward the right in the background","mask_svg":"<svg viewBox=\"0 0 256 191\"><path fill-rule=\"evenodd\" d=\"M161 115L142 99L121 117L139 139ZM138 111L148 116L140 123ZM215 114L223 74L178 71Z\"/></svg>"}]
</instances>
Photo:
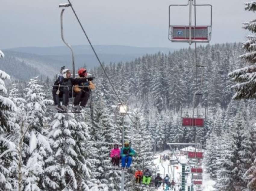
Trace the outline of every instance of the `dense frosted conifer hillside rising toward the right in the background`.
<instances>
[{"instance_id":1,"label":"dense frosted conifer hillside rising toward the right in the background","mask_svg":"<svg viewBox=\"0 0 256 191\"><path fill-rule=\"evenodd\" d=\"M202 69L203 84L198 98L202 107L215 106L227 108L233 93L228 73L241 67L244 63L239 55L244 53L241 44L216 44L198 47L198 65ZM137 58L133 62L112 63L106 66L108 75L118 89L123 101L130 104L149 104L158 111L186 108L192 104L192 96L200 85L201 72L198 71L198 82L195 81L195 50L181 49L169 54L150 54ZM93 73L102 82L102 91L110 103L113 92L100 68ZM138 101L139 100L139 101ZM147 106L146 106L147 107Z\"/></svg>"}]
</instances>

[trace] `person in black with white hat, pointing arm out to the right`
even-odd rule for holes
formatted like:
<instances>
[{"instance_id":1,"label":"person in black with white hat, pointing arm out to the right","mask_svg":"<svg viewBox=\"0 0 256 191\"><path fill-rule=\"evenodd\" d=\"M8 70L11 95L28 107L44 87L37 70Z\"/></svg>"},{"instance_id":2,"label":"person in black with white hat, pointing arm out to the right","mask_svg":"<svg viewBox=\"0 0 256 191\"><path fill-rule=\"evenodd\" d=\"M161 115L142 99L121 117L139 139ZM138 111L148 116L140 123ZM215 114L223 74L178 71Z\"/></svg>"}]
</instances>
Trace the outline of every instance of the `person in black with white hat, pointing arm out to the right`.
<instances>
[{"instance_id":1,"label":"person in black with white hat, pointing arm out to the right","mask_svg":"<svg viewBox=\"0 0 256 191\"><path fill-rule=\"evenodd\" d=\"M71 73L69 69L63 69L62 74L58 77L58 79L54 82L54 87L52 88L52 97L54 101L54 105L56 109L65 112L67 111L68 99L72 97L72 86L75 84L80 84L86 82L86 78L73 78L70 77ZM67 87L60 87L67 86ZM62 106L60 102L60 98L62 98Z\"/></svg>"}]
</instances>

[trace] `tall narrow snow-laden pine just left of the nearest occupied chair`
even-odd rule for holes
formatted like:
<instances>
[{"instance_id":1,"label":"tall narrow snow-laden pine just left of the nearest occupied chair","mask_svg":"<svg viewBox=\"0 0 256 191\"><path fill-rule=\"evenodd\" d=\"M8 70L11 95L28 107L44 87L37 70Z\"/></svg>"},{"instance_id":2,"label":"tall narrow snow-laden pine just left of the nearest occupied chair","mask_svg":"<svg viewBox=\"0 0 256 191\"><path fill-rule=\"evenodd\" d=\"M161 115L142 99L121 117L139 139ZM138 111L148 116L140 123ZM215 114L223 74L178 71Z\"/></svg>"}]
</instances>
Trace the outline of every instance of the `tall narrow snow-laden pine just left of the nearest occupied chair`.
<instances>
[{"instance_id":1,"label":"tall narrow snow-laden pine just left of the nearest occupied chair","mask_svg":"<svg viewBox=\"0 0 256 191\"><path fill-rule=\"evenodd\" d=\"M39 85L38 77L30 79L26 92L26 114L29 128L24 136L24 170L25 190L45 189L45 160L52 154L48 142L48 131L44 128L47 123L45 117L45 94L43 86Z\"/></svg>"}]
</instances>

